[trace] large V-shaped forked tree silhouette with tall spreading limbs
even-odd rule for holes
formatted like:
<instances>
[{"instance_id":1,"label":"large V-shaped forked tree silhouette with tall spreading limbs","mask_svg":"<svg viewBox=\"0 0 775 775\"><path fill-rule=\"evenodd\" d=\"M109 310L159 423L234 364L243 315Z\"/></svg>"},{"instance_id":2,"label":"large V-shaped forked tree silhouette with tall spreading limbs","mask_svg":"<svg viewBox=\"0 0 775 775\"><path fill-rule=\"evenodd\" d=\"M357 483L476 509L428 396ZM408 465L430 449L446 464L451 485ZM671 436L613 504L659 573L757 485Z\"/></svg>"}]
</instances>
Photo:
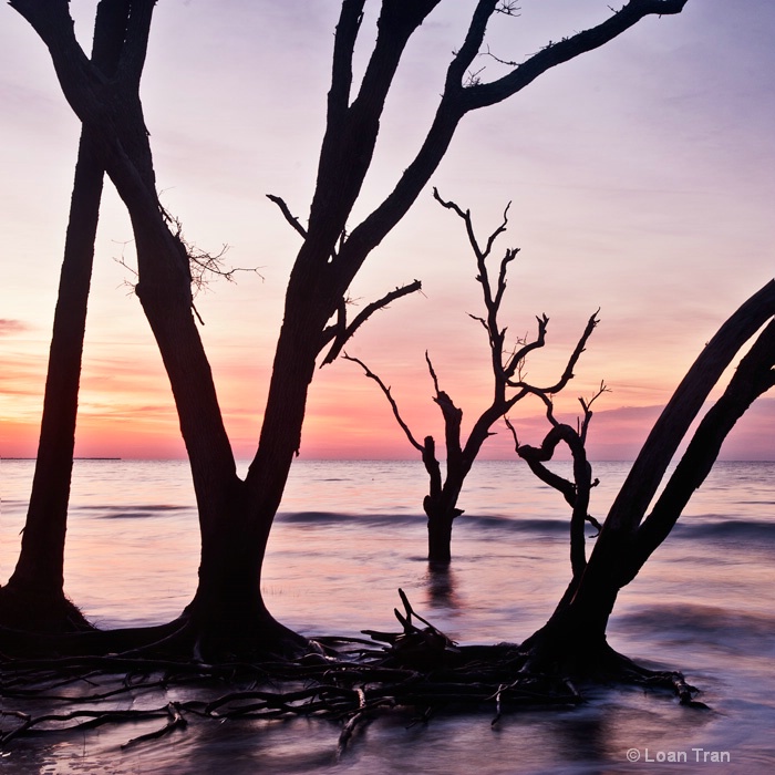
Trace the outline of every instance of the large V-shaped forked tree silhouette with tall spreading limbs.
<instances>
[{"instance_id":1,"label":"large V-shaped forked tree silhouette with tall spreading limbs","mask_svg":"<svg viewBox=\"0 0 775 775\"><path fill-rule=\"evenodd\" d=\"M287 288L256 455L242 479L236 473L196 327L190 257L179 230L170 228L156 192L138 95L154 0L130 0L121 56L111 79L81 50L66 0L11 0L49 48L63 93L93 138L132 220L138 270L135 290L169 378L199 514L198 588L180 619L164 630L177 632L185 648L216 657L244 649L288 652L303 643L267 610L260 576L272 520L299 450L309 384L322 351L340 350L354 330L345 311L350 283L425 187L463 116L516 94L547 70L604 45L645 17L680 13L686 0L630 0L597 27L508 65L509 72L492 82L467 73L493 14L509 13L512 4L479 0L465 40L452 56L436 114L414 159L385 199L345 231L371 166L385 99L405 45L438 2L383 0L376 41L358 87L352 64L365 0L342 2L307 226L290 215L282 199L275 198L302 244ZM379 302L372 307L376 308ZM159 631L147 634L157 637Z\"/></svg>"}]
</instances>

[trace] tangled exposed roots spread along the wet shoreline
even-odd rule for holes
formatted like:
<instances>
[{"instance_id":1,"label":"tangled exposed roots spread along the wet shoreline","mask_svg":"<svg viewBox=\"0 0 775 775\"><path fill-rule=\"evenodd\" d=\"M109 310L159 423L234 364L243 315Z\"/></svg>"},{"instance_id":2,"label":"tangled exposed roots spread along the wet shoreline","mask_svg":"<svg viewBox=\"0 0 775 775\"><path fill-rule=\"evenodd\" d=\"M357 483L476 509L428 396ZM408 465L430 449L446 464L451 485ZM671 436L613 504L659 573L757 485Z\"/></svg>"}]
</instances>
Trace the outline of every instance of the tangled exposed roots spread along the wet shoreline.
<instances>
[{"instance_id":1,"label":"tangled exposed roots spread along the wet shoreline","mask_svg":"<svg viewBox=\"0 0 775 775\"><path fill-rule=\"evenodd\" d=\"M412 711L420 721L441 710L492 709L496 724L509 710L579 704L583 699L576 680L586 685L602 678L600 671L593 676L528 671L530 653L513 643L458 647L400 593L404 611L395 613L401 632L366 631L371 640L322 638L310 641L307 653L293 660L208 664L149 653L4 657L3 705L16 701L18 710L0 711L0 744L8 746L20 735L163 721L126 746L182 730L192 716L223 721L303 715L341 724L341 756L360 726L393 709ZM668 689L682 704L704 707L680 673L645 670L613 650L604 662L607 681ZM184 690L185 696L197 699L180 699ZM116 709L122 699L141 694L162 700L149 710ZM30 706L52 710L35 714L24 710Z\"/></svg>"}]
</instances>

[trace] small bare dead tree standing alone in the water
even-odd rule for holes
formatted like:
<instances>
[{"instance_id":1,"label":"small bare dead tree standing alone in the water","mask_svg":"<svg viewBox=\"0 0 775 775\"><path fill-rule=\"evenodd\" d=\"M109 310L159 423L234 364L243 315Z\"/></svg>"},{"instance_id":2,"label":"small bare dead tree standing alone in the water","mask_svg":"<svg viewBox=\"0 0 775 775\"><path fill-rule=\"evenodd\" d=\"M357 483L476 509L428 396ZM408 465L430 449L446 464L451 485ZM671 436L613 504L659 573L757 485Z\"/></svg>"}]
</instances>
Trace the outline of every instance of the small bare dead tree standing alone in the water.
<instances>
[{"instance_id":1,"label":"small bare dead tree standing alone in the water","mask_svg":"<svg viewBox=\"0 0 775 775\"><path fill-rule=\"evenodd\" d=\"M438 384L438 378L431 362L431 358L425 353L435 395L433 400L438 405L444 420L444 446L446 466L442 474L442 466L436 454L436 442L433 436L425 436L423 442L418 442L412 434L406 422L401 416L399 405L391 393L391 389L374 374L363 361L348 354L344 358L358 363L365 375L374 380L388 399L393 416L406 435L410 444L420 452L425 471L428 475L428 493L423 498L423 510L427 516L427 558L434 566L448 565L452 559L452 526L453 521L464 512L457 507L461 490L471 468L482 451L484 443L493 435L493 425L509 412L514 405L528 395L537 395L545 403L551 404L550 396L559 393L572 379L574 369L579 356L583 352L587 340L591 335L598 323L593 314L579 339L576 349L571 353L568 364L560 379L552 385L538 386L528 383L523 379L525 361L530 352L542 348L546 341L546 329L549 319L546 316L537 318L538 333L533 341L519 339L514 347L507 344L507 329L498 320L500 304L506 292L506 275L508 265L517 257L518 248L507 248L500 259L497 277L493 280L489 276L487 259L490 257L495 241L506 230L508 224L507 206L504 210L503 221L487 238L484 246L479 245L474 231L471 210L463 210L454 202L445 202L434 188L435 199L447 209L456 213L464 221L466 235L471 249L476 258L476 280L482 287L482 298L485 307L484 317L475 317L484 330L487 332L489 345L489 362L493 376L493 400L489 405L482 411L478 418L472 426L468 437L463 442L462 423L463 410L455 405L448 393L443 391ZM510 206L510 205L509 205Z\"/></svg>"}]
</instances>

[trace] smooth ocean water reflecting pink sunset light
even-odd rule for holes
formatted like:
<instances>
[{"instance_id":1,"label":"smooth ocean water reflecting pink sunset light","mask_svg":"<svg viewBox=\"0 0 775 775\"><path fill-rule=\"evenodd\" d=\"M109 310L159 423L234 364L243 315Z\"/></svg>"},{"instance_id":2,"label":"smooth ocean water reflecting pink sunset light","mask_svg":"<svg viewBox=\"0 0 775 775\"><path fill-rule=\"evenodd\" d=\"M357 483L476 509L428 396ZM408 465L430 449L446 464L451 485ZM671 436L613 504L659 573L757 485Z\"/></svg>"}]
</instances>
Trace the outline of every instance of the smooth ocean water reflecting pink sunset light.
<instances>
[{"instance_id":1,"label":"smooth ocean water reflecting pink sunset light","mask_svg":"<svg viewBox=\"0 0 775 775\"><path fill-rule=\"evenodd\" d=\"M0 463L2 581L32 471L31 461ZM604 516L627 471L596 464L593 515ZM517 462L477 464L461 499L453 565L440 579L424 559L425 484L415 462L297 462L268 550L270 610L311 637L395 630L402 588L461 643L519 642L540 627L569 576L560 496ZM104 627L177 616L194 592L198 557L186 464L78 461L71 502L65 588L86 616ZM0 772L772 773L774 582L775 464L721 463L622 590L609 627L619 651L682 670L711 711L660 692L598 688L579 707L513 713L496 726L494 709L427 724L396 713L361 730L341 761L329 722L192 724L128 750L121 744L147 728L122 725L19 740Z\"/></svg>"}]
</instances>

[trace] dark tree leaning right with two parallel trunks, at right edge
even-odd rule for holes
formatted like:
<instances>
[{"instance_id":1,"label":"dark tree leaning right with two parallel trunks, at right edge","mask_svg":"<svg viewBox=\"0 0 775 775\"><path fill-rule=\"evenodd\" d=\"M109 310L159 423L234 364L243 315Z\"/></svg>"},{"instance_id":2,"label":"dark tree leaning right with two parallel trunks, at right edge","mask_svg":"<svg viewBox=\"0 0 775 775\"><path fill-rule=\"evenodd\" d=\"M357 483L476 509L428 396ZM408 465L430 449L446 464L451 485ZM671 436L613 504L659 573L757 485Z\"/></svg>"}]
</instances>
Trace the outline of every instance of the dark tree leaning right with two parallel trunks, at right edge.
<instances>
[{"instance_id":1,"label":"dark tree leaning right with two parallel trunks, at right edge","mask_svg":"<svg viewBox=\"0 0 775 775\"><path fill-rule=\"evenodd\" d=\"M531 655L530 666L559 666L576 673L636 669L606 641L617 596L668 537L737 420L753 401L775 385L774 316L775 281L769 281L707 342L649 434L611 505L589 560L583 556L577 559L570 583L551 618L523 644ZM711 390L762 326L764 329L741 360L723 395L703 416L651 506L668 465Z\"/></svg>"}]
</instances>

